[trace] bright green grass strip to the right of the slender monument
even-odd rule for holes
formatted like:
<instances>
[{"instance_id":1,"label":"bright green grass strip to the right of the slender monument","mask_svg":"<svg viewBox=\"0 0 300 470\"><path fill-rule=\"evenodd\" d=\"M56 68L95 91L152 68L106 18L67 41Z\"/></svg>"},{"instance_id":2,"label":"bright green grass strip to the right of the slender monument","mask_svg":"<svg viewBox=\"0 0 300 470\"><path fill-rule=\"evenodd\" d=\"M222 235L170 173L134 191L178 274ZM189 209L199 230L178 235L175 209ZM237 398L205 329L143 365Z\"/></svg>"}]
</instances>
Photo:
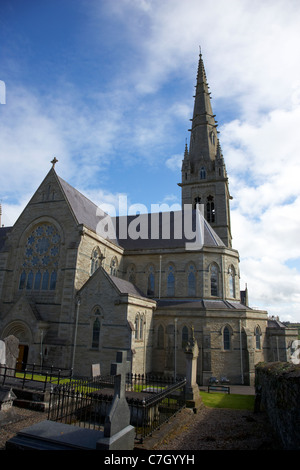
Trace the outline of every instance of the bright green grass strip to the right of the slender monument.
<instances>
[{"instance_id":1,"label":"bright green grass strip to the right of the slender monument","mask_svg":"<svg viewBox=\"0 0 300 470\"><path fill-rule=\"evenodd\" d=\"M228 395L227 393L201 392L203 404L209 408L230 408L232 410L253 410L254 395Z\"/></svg>"}]
</instances>

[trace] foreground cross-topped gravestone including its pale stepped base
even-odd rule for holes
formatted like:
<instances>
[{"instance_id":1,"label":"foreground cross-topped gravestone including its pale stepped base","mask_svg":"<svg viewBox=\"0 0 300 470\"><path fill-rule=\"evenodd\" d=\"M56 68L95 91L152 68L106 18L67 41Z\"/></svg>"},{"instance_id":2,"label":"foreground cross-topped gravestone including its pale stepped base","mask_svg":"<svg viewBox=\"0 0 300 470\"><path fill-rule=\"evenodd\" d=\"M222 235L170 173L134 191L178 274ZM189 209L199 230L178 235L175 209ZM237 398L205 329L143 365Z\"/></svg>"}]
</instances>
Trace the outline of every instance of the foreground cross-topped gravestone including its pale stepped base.
<instances>
[{"instance_id":1,"label":"foreground cross-topped gravestone including its pale stepped base","mask_svg":"<svg viewBox=\"0 0 300 470\"><path fill-rule=\"evenodd\" d=\"M130 409L125 397L126 374L129 371L127 352L118 351L116 362L111 364L111 375L115 375L114 398L104 423L104 436L97 442L99 450L132 450L134 427L130 425Z\"/></svg>"}]
</instances>

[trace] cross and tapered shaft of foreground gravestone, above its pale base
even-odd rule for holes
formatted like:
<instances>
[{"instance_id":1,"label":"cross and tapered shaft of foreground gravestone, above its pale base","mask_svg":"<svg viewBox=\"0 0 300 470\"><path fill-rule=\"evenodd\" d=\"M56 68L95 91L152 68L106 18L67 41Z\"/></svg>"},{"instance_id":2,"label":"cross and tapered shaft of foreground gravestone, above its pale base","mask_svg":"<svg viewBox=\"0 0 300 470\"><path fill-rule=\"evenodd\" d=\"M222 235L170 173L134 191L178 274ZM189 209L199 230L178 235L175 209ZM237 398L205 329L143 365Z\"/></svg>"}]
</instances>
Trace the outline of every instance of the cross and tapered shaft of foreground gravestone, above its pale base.
<instances>
[{"instance_id":1,"label":"cross and tapered shaft of foreground gravestone, above its pale base","mask_svg":"<svg viewBox=\"0 0 300 470\"><path fill-rule=\"evenodd\" d=\"M105 418L105 437L117 434L130 424L130 409L125 397L126 374L130 363L126 356L126 351L118 351L116 362L111 364L111 375L115 375L115 390L111 409Z\"/></svg>"}]
</instances>

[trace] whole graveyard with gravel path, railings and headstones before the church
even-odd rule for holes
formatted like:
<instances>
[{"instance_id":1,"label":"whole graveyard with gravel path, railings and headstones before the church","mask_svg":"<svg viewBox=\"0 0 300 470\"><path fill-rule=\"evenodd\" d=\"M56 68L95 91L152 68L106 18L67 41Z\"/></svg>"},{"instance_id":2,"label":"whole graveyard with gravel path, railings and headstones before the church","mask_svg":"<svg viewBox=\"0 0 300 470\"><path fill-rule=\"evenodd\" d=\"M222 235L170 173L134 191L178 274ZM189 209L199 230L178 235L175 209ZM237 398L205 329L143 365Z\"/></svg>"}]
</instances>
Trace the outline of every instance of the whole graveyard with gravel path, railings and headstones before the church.
<instances>
[{"instance_id":1,"label":"whole graveyard with gravel path, railings and headstones before the church","mask_svg":"<svg viewBox=\"0 0 300 470\"><path fill-rule=\"evenodd\" d=\"M122 350L109 375L101 375L100 364L92 364L90 376L80 378L72 370L37 364L22 370L16 346L15 338L1 342L0 434L16 423L1 450L299 448L297 427L288 439L285 432L286 443L279 439L286 412L280 416L280 408L268 409L267 395L271 384L272 396L283 397L288 390L290 403L292 390L297 403L299 366L258 366L263 386L256 384L247 395L251 387L231 385L224 377L212 377L205 389L198 386L199 350L193 336L185 349L186 376L180 378L130 374ZM295 422L297 413L292 413Z\"/></svg>"}]
</instances>

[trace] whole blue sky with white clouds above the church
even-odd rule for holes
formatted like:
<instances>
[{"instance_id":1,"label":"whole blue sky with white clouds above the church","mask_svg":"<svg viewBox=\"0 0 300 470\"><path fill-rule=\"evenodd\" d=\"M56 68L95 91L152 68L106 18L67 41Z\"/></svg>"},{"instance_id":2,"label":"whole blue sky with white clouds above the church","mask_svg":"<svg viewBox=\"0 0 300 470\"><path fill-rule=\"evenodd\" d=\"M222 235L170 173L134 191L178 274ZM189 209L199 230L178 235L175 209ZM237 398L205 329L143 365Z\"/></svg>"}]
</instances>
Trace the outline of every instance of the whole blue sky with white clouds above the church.
<instances>
[{"instance_id":1,"label":"whole blue sky with white clouds above the church","mask_svg":"<svg viewBox=\"0 0 300 470\"><path fill-rule=\"evenodd\" d=\"M201 45L252 306L300 321L298 0L2 0L0 200L50 169L98 204L180 203Z\"/></svg>"}]
</instances>

